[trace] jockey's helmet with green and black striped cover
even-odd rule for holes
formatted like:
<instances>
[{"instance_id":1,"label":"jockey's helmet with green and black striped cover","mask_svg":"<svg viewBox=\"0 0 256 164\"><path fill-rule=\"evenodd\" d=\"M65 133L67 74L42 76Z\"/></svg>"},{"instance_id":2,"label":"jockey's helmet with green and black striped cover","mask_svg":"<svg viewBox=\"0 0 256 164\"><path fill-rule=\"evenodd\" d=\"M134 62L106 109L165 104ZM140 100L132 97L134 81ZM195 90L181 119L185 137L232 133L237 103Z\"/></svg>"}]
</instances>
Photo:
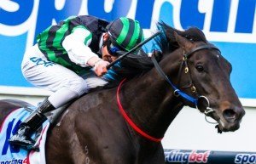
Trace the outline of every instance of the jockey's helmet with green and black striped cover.
<instances>
[{"instance_id":1,"label":"jockey's helmet with green and black striped cover","mask_svg":"<svg viewBox=\"0 0 256 164\"><path fill-rule=\"evenodd\" d=\"M113 20L107 26L107 31L113 46L126 51L130 51L144 39L139 22L126 17Z\"/></svg>"}]
</instances>

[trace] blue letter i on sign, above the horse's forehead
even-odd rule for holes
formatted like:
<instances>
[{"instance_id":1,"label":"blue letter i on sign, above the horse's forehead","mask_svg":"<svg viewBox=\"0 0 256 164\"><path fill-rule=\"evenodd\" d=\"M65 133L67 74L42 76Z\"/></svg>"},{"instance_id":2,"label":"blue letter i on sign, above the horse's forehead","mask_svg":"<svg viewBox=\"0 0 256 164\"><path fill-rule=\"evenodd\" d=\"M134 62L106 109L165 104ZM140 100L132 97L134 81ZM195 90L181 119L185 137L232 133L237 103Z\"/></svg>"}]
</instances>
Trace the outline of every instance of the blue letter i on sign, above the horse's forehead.
<instances>
[{"instance_id":1,"label":"blue letter i on sign, above the horse's forehead","mask_svg":"<svg viewBox=\"0 0 256 164\"><path fill-rule=\"evenodd\" d=\"M212 9L210 31L227 31L230 18L231 1L215 0Z\"/></svg>"}]
</instances>

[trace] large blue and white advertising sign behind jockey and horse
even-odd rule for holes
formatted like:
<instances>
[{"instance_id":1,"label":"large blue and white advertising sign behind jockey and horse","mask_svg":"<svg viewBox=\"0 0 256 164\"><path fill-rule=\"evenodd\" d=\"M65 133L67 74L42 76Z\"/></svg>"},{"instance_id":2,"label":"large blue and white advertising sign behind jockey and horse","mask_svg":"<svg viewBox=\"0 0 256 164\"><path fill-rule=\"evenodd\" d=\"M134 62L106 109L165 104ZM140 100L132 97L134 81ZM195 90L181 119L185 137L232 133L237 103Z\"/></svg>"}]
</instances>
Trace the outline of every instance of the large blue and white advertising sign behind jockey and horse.
<instances>
[{"instance_id":1,"label":"large blue and white advertising sign behind jockey and horse","mask_svg":"<svg viewBox=\"0 0 256 164\"><path fill-rule=\"evenodd\" d=\"M233 65L231 82L239 97L256 99L255 4L256 0L1 0L0 86L32 88L20 71L26 48L49 25L90 14L139 20L146 37L160 20L178 30L197 26Z\"/></svg>"}]
</instances>

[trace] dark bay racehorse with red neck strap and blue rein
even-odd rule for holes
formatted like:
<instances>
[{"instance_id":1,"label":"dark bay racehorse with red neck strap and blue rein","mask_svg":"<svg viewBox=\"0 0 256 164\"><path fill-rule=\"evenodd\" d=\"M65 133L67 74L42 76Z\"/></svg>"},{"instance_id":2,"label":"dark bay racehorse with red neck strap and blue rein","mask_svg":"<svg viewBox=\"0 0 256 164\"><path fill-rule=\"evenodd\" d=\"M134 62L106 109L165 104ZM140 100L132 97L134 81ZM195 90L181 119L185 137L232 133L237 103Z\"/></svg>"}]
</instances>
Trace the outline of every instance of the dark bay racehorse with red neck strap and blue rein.
<instances>
[{"instance_id":1,"label":"dark bay racehorse with red neck strap and blue rein","mask_svg":"<svg viewBox=\"0 0 256 164\"><path fill-rule=\"evenodd\" d=\"M159 65L149 60L150 69L118 88L73 102L49 131L48 164L164 164L160 139L184 105L211 116L219 132L239 128L245 111L230 84L230 63L197 28L177 31L161 23L160 29ZM0 101L0 122L19 106L26 104Z\"/></svg>"}]
</instances>

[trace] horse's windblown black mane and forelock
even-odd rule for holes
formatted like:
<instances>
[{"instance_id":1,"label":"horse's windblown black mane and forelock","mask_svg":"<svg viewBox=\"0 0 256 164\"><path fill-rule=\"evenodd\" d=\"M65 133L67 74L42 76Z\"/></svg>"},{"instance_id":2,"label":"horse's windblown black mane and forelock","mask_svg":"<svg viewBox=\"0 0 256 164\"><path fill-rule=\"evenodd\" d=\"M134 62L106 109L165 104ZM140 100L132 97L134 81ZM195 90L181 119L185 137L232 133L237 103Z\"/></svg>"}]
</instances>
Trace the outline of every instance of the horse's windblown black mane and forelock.
<instances>
[{"instance_id":1,"label":"horse's windblown black mane and forelock","mask_svg":"<svg viewBox=\"0 0 256 164\"><path fill-rule=\"evenodd\" d=\"M156 56L157 60L160 60L164 54L170 54L179 48L174 37L174 32L177 32L178 35L186 37L192 42L207 42L204 33L196 27L190 27L186 31L178 31L177 29L166 25L164 22L159 22L158 29L163 32L160 36L154 39L153 47L155 49L152 48L153 50L160 52ZM112 68L112 70L119 75L118 80L143 75L154 67L150 57L148 57L148 54L142 49L138 54L128 54L120 61L120 64L122 65L121 67L113 66Z\"/></svg>"}]
</instances>

